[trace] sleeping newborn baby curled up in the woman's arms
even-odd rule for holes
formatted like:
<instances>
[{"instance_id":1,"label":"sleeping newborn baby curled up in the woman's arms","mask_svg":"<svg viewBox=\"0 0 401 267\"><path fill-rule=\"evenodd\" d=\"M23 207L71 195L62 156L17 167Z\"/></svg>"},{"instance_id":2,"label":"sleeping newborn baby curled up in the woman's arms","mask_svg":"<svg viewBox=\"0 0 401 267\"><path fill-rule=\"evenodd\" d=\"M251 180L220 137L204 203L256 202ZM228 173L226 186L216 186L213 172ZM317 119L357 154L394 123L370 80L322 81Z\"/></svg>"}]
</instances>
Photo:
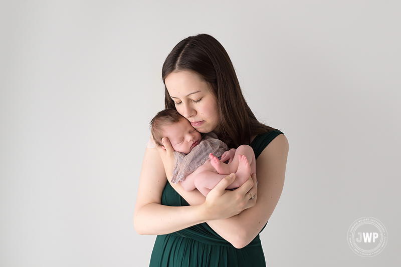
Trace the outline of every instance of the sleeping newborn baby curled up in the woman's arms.
<instances>
[{"instance_id":1,"label":"sleeping newborn baby curled up in the woman's arms","mask_svg":"<svg viewBox=\"0 0 401 267\"><path fill-rule=\"evenodd\" d=\"M229 150L213 132L202 137L176 110L160 111L150 125L155 145L164 149L161 139L167 137L175 150L171 182L179 181L186 191L197 188L206 196L233 172L236 179L227 189L234 189L246 182L252 173L256 173L255 154L250 146L241 145ZM224 163L226 161L228 164Z\"/></svg>"}]
</instances>

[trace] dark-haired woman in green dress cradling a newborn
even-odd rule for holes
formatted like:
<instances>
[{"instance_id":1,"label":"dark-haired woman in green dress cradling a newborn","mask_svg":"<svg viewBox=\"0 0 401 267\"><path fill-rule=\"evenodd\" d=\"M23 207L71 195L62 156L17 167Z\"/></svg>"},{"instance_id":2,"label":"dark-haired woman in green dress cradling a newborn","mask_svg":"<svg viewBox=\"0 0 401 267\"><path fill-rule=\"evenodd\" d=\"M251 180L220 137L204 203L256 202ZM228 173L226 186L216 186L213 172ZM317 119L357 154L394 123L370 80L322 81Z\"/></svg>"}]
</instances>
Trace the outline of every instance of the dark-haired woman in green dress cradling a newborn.
<instances>
[{"instance_id":1,"label":"dark-haired woman in green dress cradling a newborn","mask_svg":"<svg viewBox=\"0 0 401 267\"><path fill-rule=\"evenodd\" d=\"M265 266L259 239L280 198L288 142L261 124L248 107L223 46L209 35L188 37L166 58L165 107L176 109L196 130L214 132L229 147L251 145L256 174L226 191L224 178L205 198L172 184L173 149L146 148L134 212L140 234L158 234L150 266ZM168 181L168 182L167 182Z\"/></svg>"}]
</instances>

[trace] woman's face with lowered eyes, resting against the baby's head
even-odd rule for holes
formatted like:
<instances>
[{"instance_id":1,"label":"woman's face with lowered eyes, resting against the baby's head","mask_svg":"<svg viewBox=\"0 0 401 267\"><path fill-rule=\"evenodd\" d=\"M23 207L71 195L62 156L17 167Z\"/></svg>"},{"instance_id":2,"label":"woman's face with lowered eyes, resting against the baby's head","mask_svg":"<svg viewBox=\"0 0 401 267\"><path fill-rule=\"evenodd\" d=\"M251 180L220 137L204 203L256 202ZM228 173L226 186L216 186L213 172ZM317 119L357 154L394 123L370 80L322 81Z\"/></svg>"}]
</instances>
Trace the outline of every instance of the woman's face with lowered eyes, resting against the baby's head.
<instances>
[{"instance_id":1,"label":"woman's face with lowered eyes, resting against the baby's head","mask_svg":"<svg viewBox=\"0 0 401 267\"><path fill-rule=\"evenodd\" d=\"M219 112L208 83L190 71L172 72L164 79L178 113L201 133L218 134Z\"/></svg>"}]
</instances>

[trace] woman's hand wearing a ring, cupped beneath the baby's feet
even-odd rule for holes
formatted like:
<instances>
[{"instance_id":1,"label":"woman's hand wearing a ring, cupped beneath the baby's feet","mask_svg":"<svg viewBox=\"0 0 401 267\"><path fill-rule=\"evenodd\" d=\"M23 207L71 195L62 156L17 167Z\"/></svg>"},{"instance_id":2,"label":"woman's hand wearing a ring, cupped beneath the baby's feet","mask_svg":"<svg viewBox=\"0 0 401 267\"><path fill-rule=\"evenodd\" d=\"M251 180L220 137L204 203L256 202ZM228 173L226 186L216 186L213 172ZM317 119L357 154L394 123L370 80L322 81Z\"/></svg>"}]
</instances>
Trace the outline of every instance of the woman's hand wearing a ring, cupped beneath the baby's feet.
<instances>
[{"instance_id":1,"label":"woman's hand wearing a ring, cupped beneath the baby's feet","mask_svg":"<svg viewBox=\"0 0 401 267\"><path fill-rule=\"evenodd\" d=\"M209 192L204 203L208 220L230 218L256 204L256 194L258 191L256 174L252 174L252 177L249 177L249 179L236 190L226 190L234 180L235 174L232 173L223 178L220 183Z\"/></svg>"}]
</instances>

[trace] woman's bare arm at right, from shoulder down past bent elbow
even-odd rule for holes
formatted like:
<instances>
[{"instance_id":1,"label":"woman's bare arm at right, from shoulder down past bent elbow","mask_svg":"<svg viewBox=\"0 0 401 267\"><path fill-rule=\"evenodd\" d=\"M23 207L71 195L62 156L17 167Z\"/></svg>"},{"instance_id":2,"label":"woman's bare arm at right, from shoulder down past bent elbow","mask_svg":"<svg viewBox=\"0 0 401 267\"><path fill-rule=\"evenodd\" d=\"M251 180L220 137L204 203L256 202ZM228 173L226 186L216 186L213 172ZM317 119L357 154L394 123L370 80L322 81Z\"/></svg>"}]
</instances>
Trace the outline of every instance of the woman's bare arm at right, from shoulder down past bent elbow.
<instances>
[{"instance_id":1,"label":"woman's bare arm at right, from shoulder down past bent elbow","mask_svg":"<svg viewBox=\"0 0 401 267\"><path fill-rule=\"evenodd\" d=\"M284 186L287 155L288 141L283 134L280 134L256 160L258 179L256 205L231 218L208 221L217 233L235 247L241 248L249 244L262 230L276 208Z\"/></svg>"}]
</instances>

